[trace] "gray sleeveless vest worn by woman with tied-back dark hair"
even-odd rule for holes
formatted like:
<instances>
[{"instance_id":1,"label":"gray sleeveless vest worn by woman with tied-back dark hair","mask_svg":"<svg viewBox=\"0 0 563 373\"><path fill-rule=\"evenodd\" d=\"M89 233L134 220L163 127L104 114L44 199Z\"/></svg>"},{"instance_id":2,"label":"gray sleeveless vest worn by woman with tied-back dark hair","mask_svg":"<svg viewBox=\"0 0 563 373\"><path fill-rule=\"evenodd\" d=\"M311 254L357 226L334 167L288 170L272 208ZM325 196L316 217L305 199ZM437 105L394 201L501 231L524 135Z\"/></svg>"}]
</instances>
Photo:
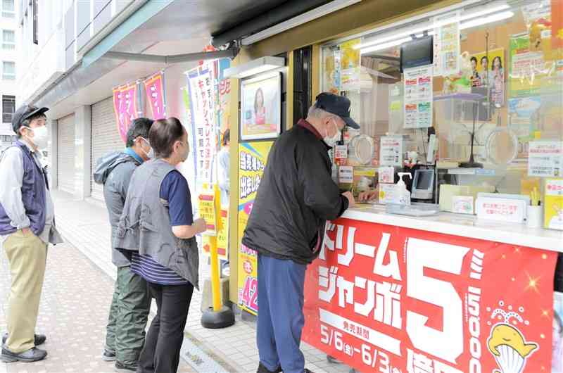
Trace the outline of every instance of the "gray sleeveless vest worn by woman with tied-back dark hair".
<instances>
[{"instance_id":1,"label":"gray sleeveless vest worn by woman with tied-back dark hair","mask_svg":"<svg viewBox=\"0 0 563 373\"><path fill-rule=\"evenodd\" d=\"M137 167L129 182L113 246L151 255L158 264L170 268L199 289L196 238L179 239L172 233L168 201L160 198L160 184L173 170L175 167L160 159Z\"/></svg>"}]
</instances>

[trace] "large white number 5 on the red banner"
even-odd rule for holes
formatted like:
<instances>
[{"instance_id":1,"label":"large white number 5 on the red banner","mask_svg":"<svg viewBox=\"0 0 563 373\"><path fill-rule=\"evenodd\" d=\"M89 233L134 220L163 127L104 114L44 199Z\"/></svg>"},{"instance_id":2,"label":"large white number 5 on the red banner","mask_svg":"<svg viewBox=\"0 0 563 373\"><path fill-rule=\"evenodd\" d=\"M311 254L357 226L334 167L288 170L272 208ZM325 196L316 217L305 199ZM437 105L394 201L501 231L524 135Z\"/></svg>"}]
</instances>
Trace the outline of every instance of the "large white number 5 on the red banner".
<instances>
[{"instance_id":1,"label":"large white number 5 on the red banner","mask_svg":"<svg viewBox=\"0 0 563 373\"><path fill-rule=\"evenodd\" d=\"M424 276L424 268L460 274L469 248L423 239L407 244L407 296L443 310L443 330L426 326L428 317L407 311L407 334L415 348L455 363L463 352L462 300L452 284Z\"/></svg>"}]
</instances>

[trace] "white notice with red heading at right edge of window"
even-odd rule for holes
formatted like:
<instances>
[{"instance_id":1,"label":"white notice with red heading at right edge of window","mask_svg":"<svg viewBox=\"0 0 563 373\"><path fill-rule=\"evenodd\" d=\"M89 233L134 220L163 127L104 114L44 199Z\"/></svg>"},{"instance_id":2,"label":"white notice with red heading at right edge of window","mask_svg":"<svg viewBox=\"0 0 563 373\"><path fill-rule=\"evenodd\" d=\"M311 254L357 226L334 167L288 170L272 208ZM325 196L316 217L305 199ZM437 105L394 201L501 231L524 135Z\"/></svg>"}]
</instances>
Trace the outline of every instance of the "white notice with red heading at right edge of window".
<instances>
[{"instance_id":1,"label":"white notice with red heading at right edge of window","mask_svg":"<svg viewBox=\"0 0 563 373\"><path fill-rule=\"evenodd\" d=\"M563 176L563 141L531 141L528 154L528 176Z\"/></svg>"}]
</instances>

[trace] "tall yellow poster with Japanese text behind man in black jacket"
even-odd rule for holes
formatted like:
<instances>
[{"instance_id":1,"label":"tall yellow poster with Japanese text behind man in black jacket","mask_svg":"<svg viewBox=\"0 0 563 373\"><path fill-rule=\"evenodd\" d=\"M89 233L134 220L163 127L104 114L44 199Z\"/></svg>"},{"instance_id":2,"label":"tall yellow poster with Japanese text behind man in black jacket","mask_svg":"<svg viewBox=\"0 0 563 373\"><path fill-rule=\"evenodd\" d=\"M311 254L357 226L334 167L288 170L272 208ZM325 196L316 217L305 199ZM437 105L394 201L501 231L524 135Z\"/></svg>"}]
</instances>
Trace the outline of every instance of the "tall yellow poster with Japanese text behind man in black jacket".
<instances>
[{"instance_id":1,"label":"tall yellow poster with Japanese text behind man in black jacket","mask_svg":"<svg viewBox=\"0 0 563 373\"><path fill-rule=\"evenodd\" d=\"M239 305L258 314L258 257L240 243L273 141L239 144Z\"/></svg>"}]
</instances>

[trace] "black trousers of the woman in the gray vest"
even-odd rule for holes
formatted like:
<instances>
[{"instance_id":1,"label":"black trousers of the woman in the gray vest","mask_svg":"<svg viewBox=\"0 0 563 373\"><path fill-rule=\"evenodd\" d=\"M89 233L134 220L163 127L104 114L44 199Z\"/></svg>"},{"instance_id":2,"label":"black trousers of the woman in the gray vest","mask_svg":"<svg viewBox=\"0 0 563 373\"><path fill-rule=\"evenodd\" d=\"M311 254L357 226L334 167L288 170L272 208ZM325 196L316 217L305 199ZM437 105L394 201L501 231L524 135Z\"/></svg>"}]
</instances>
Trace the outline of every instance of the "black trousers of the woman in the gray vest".
<instances>
[{"instance_id":1,"label":"black trousers of the woman in the gray vest","mask_svg":"<svg viewBox=\"0 0 563 373\"><path fill-rule=\"evenodd\" d=\"M156 299L158 311L148 329L137 372L175 373L194 285L158 285L149 282L148 286Z\"/></svg>"}]
</instances>

